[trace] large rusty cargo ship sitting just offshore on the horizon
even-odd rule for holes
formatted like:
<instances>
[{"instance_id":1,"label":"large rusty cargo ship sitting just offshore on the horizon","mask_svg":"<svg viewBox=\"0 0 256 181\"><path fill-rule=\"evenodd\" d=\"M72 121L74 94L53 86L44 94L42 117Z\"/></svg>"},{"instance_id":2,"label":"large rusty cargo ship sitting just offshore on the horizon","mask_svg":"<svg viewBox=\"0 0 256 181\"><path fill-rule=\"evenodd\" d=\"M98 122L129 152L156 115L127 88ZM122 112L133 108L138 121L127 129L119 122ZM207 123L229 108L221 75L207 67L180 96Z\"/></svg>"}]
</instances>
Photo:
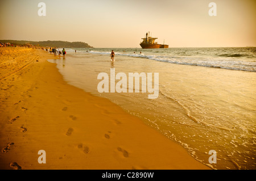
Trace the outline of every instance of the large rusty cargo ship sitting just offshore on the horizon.
<instances>
[{"instance_id":1,"label":"large rusty cargo ship sitting just offshore on the horizon","mask_svg":"<svg viewBox=\"0 0 256 181\"><path fill-rule=\"evenodd\" d=\"M139 44L141 48L169 48L169 45L158 44L155 40L158 39L157 37L151 37L149 35L150 32L146 33L146 37L142 38L142 42Z\"/></svg>"}]
</instances>

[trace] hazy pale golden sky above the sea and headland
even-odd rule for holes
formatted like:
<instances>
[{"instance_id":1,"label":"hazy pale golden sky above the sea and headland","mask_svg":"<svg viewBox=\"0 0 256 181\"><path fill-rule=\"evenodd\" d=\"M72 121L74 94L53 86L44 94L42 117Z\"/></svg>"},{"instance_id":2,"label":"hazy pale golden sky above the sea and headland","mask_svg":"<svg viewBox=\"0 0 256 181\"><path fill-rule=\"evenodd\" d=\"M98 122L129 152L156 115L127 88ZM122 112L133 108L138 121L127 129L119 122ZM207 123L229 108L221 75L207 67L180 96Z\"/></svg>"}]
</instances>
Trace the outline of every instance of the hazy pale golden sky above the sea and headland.
<instances>
[{"instance_id":1,"label":"hazy pale golden sky above the sea and headland","mask_svg":"<svg viewBox=\"0 0 256 181\"><path fill-rule=\"evenodd\" d=\"M209 16L210 2L217 16ZM0 39L96 48L140 47L148 31L169 47L256 47L255 22L255 0L0 0Z\"/></svg>"}]
</instances>

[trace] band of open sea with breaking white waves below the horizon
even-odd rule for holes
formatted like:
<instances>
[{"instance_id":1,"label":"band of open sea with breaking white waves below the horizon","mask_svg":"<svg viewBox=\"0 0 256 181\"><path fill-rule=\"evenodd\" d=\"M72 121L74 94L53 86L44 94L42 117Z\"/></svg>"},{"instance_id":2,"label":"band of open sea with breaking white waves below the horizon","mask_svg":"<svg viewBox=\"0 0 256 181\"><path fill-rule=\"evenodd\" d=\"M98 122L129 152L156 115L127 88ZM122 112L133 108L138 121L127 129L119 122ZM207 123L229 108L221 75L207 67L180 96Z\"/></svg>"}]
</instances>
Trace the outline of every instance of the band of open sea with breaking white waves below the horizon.
<instances>
[{"instance_id":1,"label":"band of open sea with breaking white waves below the horizon","mask_svg":"<svg viewBox=\"0 0 256 181\"><path fill-rule=\"evenodd\" d=\"M81 53L88 51L94 54L109 54L112 49L98 48L77 50ZM148 58L150 60L168 62L171 64L256 71L256 48L115 48L114 50L117 56ZM73 52L73 50L71 50L71 52Z\"/></svg>"}]
</instances>

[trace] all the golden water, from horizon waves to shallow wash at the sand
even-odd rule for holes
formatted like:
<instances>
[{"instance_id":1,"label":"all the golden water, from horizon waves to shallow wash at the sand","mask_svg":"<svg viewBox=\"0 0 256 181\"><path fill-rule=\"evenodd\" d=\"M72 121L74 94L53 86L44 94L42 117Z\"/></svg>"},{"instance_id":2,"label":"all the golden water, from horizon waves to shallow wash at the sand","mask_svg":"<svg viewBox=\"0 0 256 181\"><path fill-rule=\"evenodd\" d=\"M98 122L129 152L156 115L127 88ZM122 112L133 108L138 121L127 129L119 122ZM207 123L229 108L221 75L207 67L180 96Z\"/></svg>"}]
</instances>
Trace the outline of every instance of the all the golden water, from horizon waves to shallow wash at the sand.
<instances>
[{"instance_id":1,"label":"all the golden water, from horizon waves to shallow wash at the sand","mask_svg":"<svg viewBox=\"0 0 256 181\"><path fill-rule=\"evenodd\" d=\"M115 61L110 61L111 50ZM256 48L77 48L57 64L64 79L118 104L214 169L256 169ZM101 72L159 73L159 96L100 93ZM117 83L118 80L115 81ZM128 79L127 79L128 82ZM128 87L128 86L127 86ZM210 150L217 163L209 163Z\"/></svg>"}]
</instances>

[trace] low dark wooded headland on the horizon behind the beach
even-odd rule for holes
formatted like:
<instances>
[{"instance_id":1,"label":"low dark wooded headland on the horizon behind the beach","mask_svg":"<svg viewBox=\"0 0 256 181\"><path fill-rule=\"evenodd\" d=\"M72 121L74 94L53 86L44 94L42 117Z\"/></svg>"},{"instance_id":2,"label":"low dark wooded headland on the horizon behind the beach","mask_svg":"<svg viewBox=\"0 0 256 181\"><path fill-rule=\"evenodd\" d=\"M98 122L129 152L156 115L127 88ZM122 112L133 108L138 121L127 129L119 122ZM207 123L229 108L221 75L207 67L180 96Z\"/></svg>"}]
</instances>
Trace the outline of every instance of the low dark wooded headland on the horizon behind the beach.
<instances>
[{"instance_id":1,"label":"low dark wooded headland on the horizon behind the beach","mask_svg":"<svg viewBox=\"0 0 256 181\"><path fill-rule=\"evenodd\" d=\"M64 48L93 48L87 43L81 41L26 41L26 40L0 40L2 43L10 43L13 45L31 44L39 47L64 47Z\"/></svg>"}]
</instances>

